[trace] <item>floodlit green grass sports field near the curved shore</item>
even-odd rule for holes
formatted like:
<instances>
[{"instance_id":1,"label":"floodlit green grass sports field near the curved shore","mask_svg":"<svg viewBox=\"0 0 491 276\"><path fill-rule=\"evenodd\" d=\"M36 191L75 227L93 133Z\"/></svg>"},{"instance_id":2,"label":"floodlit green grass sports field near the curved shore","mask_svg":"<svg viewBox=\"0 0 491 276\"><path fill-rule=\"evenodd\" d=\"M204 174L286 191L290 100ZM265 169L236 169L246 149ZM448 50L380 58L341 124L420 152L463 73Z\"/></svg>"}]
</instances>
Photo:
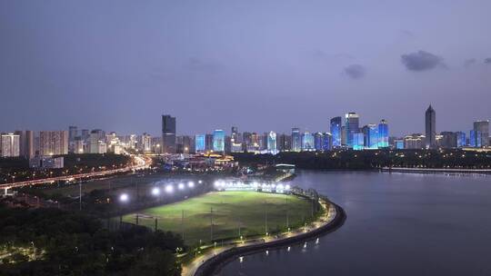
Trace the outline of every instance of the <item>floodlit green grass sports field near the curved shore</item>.
<instances>
[{"instance_id":1,"label":"floodlit green grass sports field near the curved shore","mask_svg":"<svg viewBox=\"0 0 491 276\"><path fill-rule=\"evenodd\" d=\"M268 232L301 225L311 214L311 202L295 195L266 192L208 192L183 202L145 209L138 213L138 224L164 231L182 233L185 243L210 242L210 211L213 208L214 240L265 234L266 210ZM184 211L184 220L182 212ZM135 223L136 213L126 214L125 222ZM183 222L181 224L181 222ZM182 225L182 227L181 227Z\"/></svg>"}]
</instances>

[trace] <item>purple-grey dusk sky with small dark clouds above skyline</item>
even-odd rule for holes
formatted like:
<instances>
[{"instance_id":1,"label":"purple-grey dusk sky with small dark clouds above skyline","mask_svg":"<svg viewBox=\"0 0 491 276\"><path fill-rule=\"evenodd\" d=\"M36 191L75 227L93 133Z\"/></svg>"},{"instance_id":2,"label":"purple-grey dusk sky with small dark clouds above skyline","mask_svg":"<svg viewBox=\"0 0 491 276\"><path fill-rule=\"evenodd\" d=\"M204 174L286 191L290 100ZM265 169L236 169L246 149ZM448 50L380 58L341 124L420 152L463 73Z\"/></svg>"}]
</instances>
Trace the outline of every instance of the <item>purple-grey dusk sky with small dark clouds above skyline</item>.
<instances>
[{"instance_id":1,"label":"purple-grey dusk sky with small dark clouds above skyline","mask_svg":"<svg viewBox=\"0 0 491 276\"><path fill-rule=\"evenodd\" d=\"M397 2L397 3L396 3ZM0 131L391 134L491 118L490 1L0 0Z\"/></svg>"}]
</instances>

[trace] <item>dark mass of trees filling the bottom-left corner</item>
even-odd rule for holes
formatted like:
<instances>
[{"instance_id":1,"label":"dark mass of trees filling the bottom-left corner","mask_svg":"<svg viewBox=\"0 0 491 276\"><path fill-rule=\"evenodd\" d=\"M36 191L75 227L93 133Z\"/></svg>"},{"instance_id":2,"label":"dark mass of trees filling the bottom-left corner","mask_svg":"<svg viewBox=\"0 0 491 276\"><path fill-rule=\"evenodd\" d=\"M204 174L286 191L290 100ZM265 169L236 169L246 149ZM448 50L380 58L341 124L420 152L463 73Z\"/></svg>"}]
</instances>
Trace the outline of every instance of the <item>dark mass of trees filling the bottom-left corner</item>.
<instances>
[{"instance_id":1,"label":"dark mass of trees filling the bottom-left corner","mask_svg":"<svg viewBox=\"0 0 491 276\"><path fill-rule=\"evenodd\" d=\"M171 232L110 232L92 216L0 207L1 275L180 275Z\"/></svg>"}]
</instances>

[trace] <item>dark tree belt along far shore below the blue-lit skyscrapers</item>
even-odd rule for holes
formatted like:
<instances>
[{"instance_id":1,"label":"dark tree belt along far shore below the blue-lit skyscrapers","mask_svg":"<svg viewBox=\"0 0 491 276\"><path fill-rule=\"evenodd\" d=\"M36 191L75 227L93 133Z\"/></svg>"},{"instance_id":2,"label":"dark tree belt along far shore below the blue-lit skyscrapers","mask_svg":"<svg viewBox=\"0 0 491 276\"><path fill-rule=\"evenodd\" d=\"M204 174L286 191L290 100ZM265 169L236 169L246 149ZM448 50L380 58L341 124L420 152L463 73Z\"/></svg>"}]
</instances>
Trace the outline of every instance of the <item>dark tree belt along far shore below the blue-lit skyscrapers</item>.
<instances>
[{"instance_id":1,"label":"dark tree belt along far shore below the blue-lit skyscrapers","mask_svg":"<svg viewBox=\"0 0 491 276\"><path fill-rule=\"evenodd\" d=\"M292 163L302 169L369 170L380 167L489 169L491 153L453 150L338 150L324 153L234 153L241 164Z\"/></svg>"}]
</instances>

